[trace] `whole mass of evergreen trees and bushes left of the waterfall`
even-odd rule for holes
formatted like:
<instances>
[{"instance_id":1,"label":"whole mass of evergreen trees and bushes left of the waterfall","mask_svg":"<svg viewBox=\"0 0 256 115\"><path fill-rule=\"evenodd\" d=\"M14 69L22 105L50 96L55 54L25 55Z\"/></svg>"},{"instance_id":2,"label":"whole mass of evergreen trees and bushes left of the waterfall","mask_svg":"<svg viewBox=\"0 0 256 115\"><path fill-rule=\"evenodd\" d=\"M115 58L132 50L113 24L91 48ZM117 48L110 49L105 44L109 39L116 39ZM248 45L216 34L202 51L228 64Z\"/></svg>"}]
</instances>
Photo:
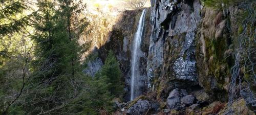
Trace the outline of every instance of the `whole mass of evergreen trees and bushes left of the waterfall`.
<instances>
[{"instance_id":1,"label":"whole mass of evergreen trees and bushes left of the waterfall","mask_svg":"<svg viewBox=\"0 0 256 115\"><path fill-rule=\"evenodd\" d=\"M25 17L26 0L0 2L4 5L0 10L0 114L113 110L112 99L121 96L123 89L113 52L98 77L82 73L81 57L91 42L78 44L88 25L86 18L79 17L84 9L81 1L38 0L36 13Z\"/></svg>"}]
</instances>

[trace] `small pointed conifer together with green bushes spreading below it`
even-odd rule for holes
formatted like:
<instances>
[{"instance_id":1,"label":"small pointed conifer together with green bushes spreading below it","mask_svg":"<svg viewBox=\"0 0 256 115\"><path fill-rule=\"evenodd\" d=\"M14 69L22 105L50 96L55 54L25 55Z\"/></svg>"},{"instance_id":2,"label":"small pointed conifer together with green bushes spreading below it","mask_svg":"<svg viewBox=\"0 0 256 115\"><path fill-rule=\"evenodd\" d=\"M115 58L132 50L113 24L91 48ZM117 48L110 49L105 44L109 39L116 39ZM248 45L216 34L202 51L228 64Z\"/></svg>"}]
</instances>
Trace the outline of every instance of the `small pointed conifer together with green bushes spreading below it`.
<instances>
[{"instance_id":1,"label":"small pointed conifer together with green bushes spreading below it","mask_svg":"<svg viewBox=\"0 0 256 115\"><path fill-rule=\"evenodd\" d=\"M91 54L86 60L93 60L97 56L97 53ZM96 73L95 77L82 77L83 94L79 95L68 109L76 111L76 114L99 114L101 110L112 112L112 99L121 96L123 90L120 78L119 63L113 51L110 51L101 71Z\"/></svg>"}]
</instances>

